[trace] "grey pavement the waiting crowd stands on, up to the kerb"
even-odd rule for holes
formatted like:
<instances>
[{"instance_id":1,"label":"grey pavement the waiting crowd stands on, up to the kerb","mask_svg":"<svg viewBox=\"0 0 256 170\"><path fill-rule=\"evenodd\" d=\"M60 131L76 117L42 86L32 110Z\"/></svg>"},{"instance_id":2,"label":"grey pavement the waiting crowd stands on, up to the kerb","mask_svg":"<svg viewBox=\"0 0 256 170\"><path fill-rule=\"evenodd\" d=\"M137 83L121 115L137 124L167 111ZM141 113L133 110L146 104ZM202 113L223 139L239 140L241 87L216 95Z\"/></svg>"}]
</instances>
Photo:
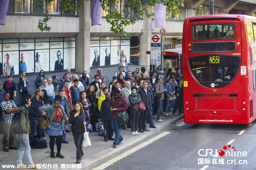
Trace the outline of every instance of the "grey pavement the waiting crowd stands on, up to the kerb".
<instances>
[{"instance_id":1,"label":"grey pavement the waiting crowd stands on, up to the kerb","mask_svg":"<svg viewBox=\"0 0 256 170\"><path fill-rule=\"evenodd\" d=\"M72 136L72 132L66 133L66 141L68 144L62 143L61 154L65 156L64 159L61 158L50 158L50 147L49 147L49 137L46 135L46 141L48 147L45 149L31 149L32 160L35 164L39 164L38 168L42 169L54 169L52 167L54 164L58 166L56 169L91 169L90 167L102 160L108 159L111 156L123 152L128 147L136 146L136 144L143 142L144 140L152 137L156 133L160 133L170 127L170 125L176 123L180 119L183 119L183 113L181 116L173 116L173 117L161 117L164 122L157 122L156 119L153 118L154 125L157 127L149 128L149 124L147 128L150 129L149 132L140 133L140 135L133 136L131 135L131 129L122 129L122 136L124 137L124 142L121 145L117 145L117 148L113 148L113 141L104 142L104 139L98 136L97 133L92 132L89 133L89 137L91 139L92 146L83 148L84 156L81 159L80 167L75 164L76 162L76 147L74 145L74 139ZM96 125L97 126L97 125ZM114 137L114 136L113 136ZM2 141L3 135L0 134L0 141ZM14 143L16 147L19 147L19 135L16 135ZM54 152L56 154L56 145L54 146ZM18 158L18 150L11 150L9 152L4 152L4 150L0 149L0 169L4 169L1 167L2 165L16 165L16 161ZM26 154L24 153L23 159L24 164L27 164ZM15 168L8 168L15 169Z\"/></svg>"}]
</instances>

